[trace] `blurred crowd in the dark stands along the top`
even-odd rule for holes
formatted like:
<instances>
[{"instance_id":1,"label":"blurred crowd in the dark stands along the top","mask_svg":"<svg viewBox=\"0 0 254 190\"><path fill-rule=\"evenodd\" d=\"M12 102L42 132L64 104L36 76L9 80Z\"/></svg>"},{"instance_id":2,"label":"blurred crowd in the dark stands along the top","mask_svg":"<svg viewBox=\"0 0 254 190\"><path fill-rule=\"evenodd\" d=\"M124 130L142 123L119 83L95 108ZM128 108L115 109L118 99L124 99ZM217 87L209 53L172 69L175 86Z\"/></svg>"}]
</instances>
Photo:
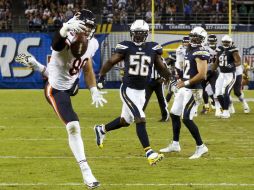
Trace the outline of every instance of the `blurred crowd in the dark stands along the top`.
<instances>
[{"instance_id":1,"label":"blurred crowd in the dark stands along the top","mask_svg":"<svg viewBox=\"0 0 254 190\"><path fill-rule=\"evenodd\" d=\"M151 0L24 0L29 31L55 31L81 9L89 8L99 23L130 24L135 19L151 22ZM155 22L161 24L227 23L227 0L154 0ZM254 5L232 0L234 22L252 23ZM12 0L0 0L0 28L11 28ZM14 13L14 12L13 12Z\"/></svg>"}]
</instances>

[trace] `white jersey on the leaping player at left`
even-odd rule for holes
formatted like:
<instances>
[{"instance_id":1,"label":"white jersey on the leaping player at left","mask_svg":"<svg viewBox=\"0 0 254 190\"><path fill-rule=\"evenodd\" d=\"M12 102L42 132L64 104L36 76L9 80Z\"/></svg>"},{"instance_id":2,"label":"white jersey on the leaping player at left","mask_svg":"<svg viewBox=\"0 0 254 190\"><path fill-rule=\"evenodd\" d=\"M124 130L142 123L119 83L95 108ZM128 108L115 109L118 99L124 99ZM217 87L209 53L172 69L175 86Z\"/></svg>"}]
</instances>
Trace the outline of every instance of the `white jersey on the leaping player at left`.
<instances>
[{"instance_id":1,"label":"white jersey on the leaping player at left","mask_svg":"<svg viewBox=\"0 0 254 190\"><path fill-rule=\"evenodd\" d=\"M68 33L66 43L73 37L71 33ZM88 40L86 53L81 58L75 58L67 45L62 51L52 50L47 66L49 84L57 90L69 90L79 77L82 67L85 66L88 59L94 56L98 47L99 43L95 38Z\"/></svg>"}]
</instances>

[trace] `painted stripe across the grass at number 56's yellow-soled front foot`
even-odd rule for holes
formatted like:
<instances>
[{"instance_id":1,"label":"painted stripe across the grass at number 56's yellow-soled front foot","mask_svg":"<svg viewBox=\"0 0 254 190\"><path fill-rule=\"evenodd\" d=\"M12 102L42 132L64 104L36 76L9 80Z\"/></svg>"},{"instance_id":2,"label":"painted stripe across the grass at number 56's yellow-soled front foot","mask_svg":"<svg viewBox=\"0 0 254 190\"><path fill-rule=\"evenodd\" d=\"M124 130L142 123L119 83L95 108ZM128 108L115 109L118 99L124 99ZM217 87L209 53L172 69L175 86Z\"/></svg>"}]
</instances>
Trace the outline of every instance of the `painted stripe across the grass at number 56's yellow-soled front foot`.
<instances>
[{"instance_id":1,"label":"painted stripe across the grass at number 56's yellow-soled front foot","mask_svg":"<svg viewBox=\"0 0 254 190\"><path fill-rule=\"evenodd\" d=\"M1 156L0 159L73 159L73 156ZM88 156L89 159L144 159L145 156ZM176 157L170 156L177 160L188 160L188 157ZM244 157L202 157L204 160L242 160L242 159L254 159L253 156Z\"/></svg>"}]
</instances>

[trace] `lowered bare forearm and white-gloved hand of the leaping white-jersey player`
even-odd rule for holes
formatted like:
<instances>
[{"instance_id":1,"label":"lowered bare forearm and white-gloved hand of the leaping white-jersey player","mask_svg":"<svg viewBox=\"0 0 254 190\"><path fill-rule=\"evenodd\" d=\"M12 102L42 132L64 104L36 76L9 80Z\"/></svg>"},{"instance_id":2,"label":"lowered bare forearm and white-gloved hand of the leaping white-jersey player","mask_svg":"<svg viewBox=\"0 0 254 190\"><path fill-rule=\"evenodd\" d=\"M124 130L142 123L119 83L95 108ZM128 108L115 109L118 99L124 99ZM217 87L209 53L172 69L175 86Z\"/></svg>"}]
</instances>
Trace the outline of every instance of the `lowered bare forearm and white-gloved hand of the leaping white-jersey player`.
<instances>
[{"instance_id":1,"label":"lowered bare forearm and white-gloved hand of the leaping white-jersey player","mask_svg":"<svg viewBox=\"0 0 254 190\"><path fill-rule=\"evenodd\" d=\"M98 108L98 106L103 106L104 103L107 103L107 100L103 98L103 94L106 92L99 91L96 87L96 79L91 59L88 59L83 71L86 84L91 92L92 104L94 104L96 108Z\"/></svg>"}]
</instances>

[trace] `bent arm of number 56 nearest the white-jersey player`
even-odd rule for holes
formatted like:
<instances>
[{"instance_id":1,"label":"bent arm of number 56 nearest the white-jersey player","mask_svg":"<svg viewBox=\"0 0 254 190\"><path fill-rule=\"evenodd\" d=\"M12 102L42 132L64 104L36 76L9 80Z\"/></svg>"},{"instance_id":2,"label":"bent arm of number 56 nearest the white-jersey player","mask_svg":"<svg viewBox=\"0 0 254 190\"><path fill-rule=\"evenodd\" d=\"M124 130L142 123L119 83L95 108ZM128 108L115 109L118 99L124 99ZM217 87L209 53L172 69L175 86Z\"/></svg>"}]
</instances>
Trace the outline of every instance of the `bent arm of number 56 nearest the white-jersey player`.
<instances>
[{"instance_id":1,"label":"bent arm of number 56 nearest the white-jersey player","mask_svg":"<svg viewBox=\"0 0 254 190\"><path fill-rule=\"evenodd\" d=\"M111 58L106 61L106 63L103 64L101 70L100 70L100 74L99 74L99 79L98 79L98 88L102 89L104 88L105 85L105 75L108 71L110 71L110 69L117 63L119 63L120 61L122 61L124 59L124 55L120 54L120 53L115 53L111 56Z\"/></svg>"}]
</instances>

